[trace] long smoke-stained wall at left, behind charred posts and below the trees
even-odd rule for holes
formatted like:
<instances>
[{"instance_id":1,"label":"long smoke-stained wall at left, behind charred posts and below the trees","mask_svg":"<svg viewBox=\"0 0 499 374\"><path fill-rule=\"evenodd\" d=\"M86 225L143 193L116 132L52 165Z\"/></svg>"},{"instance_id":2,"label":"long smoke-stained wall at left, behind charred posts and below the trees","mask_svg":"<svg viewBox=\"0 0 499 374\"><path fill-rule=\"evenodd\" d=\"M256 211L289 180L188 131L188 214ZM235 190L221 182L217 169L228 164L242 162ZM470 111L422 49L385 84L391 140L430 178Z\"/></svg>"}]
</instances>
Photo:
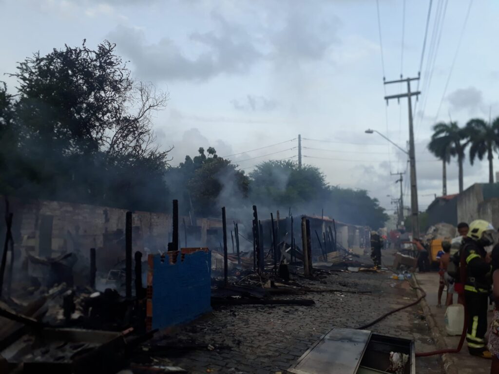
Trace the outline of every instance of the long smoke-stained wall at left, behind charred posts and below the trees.
<instances>
[{"instance_id":1,"label":"long smoke-stained wall at left, behind charred posts and below the trees","mask_svg":"<svg viewBox=\"0 0 499 374\"><path fill-rule=\"evenodd\" d=\"M0 196L1 197L1 196ZM105 206L76 204L49 200L19 200L9 198L9 210L13 213L12 233L15 242L16 258L25 251L40 254L40 222L44 216L52 216L51 248L44 250L54 257L60 253L80 252L88 256L91 247L96 248L97 259L110 257L110 263L124 259L124 231L126 209ZM4 211L4 200L0 200L0 211ZM189 218L186 217L186 222ZM221 220L198 218L202 226L202 240L206 241L206 229L221 227ZM132 214L133 250L158 253L165 251L171 240L172 216L164 213L134 211ZM180 217L180 244L184 246L182 217ZM0 220L0 232L4 232L4 220ZM195 243L189 243L194 245ZM147 250L146 250L147 249ZM102 263L97 263L102 269Z\"/></svg>"}]
</instances>

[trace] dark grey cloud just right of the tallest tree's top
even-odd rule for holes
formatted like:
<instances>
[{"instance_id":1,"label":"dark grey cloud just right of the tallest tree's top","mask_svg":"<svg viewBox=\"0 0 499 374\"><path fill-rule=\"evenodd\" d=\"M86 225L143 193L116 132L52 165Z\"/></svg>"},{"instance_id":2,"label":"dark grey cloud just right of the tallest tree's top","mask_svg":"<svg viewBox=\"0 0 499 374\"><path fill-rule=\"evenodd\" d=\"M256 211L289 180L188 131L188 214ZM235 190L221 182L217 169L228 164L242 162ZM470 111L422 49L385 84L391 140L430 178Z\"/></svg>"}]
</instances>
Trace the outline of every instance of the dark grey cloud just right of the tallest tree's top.
<instances>
[{"instance_id":1,"label":"dark grey cloud just right of the tallest tree's top","mask_svg":"<svg viewBox=\"0 0 499 374\"><path fill-rule=\"evenodd\" d=\"M248 72L261 58L249 34L216 12L212 12L212 18L216 31L190 35L200 51L195 57L188 57L167 37L148 43L138 28L120 25L109 39L131 59L136 74L151 80L205 80L222 73Z\"/></svg>"}]
</instances>

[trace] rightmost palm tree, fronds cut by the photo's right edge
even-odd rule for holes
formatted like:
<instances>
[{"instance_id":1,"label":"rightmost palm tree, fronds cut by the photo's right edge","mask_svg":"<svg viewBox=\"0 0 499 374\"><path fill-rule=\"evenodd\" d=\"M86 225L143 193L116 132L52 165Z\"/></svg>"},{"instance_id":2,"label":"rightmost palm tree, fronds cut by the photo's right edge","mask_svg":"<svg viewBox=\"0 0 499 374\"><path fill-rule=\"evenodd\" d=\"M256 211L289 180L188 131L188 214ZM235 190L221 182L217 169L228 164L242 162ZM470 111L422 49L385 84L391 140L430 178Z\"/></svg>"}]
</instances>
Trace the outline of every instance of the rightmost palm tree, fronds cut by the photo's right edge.
<instances>
[{"instance_id":1,"label":"rightmost palm tree, fronds cut by the photo's right edge","mask_svg":"<svg viewBox=\"0 0 499 374\"><path fill-rule=\"evenodd\" d=\"M480 118L474 118L466 124L470 137L470 163L475 158L483 160L487 155L489 160L489 183L494 183L494 153L499 149L499 117L493 123L487 123Z\"/></svg>"}]
</instances>

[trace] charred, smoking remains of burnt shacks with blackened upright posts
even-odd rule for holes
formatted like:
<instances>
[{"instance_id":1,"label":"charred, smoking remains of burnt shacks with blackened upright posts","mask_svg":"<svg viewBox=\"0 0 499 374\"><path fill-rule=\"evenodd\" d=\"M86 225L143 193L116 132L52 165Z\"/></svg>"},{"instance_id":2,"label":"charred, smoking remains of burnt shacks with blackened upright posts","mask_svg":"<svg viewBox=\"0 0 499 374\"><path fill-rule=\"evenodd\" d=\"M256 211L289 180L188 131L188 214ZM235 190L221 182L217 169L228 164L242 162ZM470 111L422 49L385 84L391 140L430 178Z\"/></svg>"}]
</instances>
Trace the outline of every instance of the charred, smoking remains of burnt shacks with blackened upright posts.
<instances>
[{"instance_id":1,"label":"charred, smoking remains of burnt shacks with blackened upright posts","mask_svg":"<svg viewBox=\"0 0 499 374\"><path fill-rule=\"evenodd\" d=\"M182 368L158 367L144 359L144 355L157 354L158 350L165 354L178 347L154 344L158 329L151 324L148 306L154 301L148 273L153 255L134 251L132 212L126 213L125 230L119 238L124 244L124 261L102 277L104 266L99 264L93 247L76 248L56 257L14 250L15 212L9 210L7 200L5 208L0 263L0 373L104 374L123 368L133 373L158 372L158 368L186 373ZM188 220L190 225L183 219L180 226L178 212L174 200L171 241L167 251L158 251L161 261L184 261L192 249L187 247L188 238L197 228L192 219ZM223 207L222 240L218 246L210 245L210 250L201 248L211 255L208 292L211 289L212 308L312 306L309 293L348 292L321 287L328 273L362 266L355 258L358 256L337 240L334 220L311 216L295 219L291 214L283 218L278 211L275 218L271 213L269 219L261 219L255 205L252 214L250 230L243 225L246 228L241 232L242 222L229 223ZM181 237L184 248L180 248ZM216 242L214 237L208 239ZM21 265L15 266L14 259ZM311 287L310 282L304 285L302 279L316 281L316 286ZM153 343L144 345L151 339ZM210 346L194 344L184 349Z\"/></svg>"}]
</instances>

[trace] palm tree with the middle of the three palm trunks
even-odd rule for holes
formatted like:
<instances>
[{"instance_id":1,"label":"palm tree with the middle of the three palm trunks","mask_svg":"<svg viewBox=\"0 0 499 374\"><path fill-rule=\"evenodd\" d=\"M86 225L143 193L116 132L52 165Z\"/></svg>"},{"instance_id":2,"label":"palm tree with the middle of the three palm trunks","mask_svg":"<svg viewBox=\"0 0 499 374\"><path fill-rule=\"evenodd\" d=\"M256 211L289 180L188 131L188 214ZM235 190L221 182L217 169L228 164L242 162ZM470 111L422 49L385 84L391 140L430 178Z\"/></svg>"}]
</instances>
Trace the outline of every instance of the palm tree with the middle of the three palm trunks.
<instances>
[{"instance_id":1,"label":"palm tree with the middle of the three palm trunks","mask_svg":"<svg viewBox=\"0 0 499 374\"><path fill-rule=\"evenodd\" d=\"M468 140L468 131L460 128L457 122L451 121L448 124L440 122L433 126L433 135L430 143L439 145L439 147L436 147L435 149L440 149L443 153L435 155L440 159L446 160L447 152L450 156L456 156L458 158L459 192L463 192L463 161L465 159L466 147L470 143ZM432 151L432 149L430 149L430 151Z\"/></svg>"}]
</instances>

